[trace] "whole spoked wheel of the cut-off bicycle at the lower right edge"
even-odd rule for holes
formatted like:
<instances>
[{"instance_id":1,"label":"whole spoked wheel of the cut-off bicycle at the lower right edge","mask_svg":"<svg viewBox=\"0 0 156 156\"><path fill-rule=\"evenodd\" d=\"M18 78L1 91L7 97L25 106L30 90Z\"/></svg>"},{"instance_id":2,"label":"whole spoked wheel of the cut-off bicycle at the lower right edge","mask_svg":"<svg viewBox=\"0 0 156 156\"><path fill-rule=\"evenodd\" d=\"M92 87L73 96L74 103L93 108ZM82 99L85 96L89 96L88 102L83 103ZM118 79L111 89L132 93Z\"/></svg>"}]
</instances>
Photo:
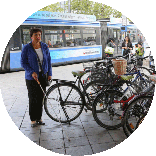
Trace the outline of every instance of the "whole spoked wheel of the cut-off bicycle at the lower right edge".
<instances>
[{"instance_id":1,"label":"whole spoked wheel of the cut-off bicycle at the lower right edge","mask_svg":"<svg viewBox=\"0 0 156 156\"><path fill-rule=\"evenodd\" d=\"M138 121L149 111L153 96L140 96L130 102L122 120L123 130L129 137L138 127Z\"/></svg>"}]
</instances>

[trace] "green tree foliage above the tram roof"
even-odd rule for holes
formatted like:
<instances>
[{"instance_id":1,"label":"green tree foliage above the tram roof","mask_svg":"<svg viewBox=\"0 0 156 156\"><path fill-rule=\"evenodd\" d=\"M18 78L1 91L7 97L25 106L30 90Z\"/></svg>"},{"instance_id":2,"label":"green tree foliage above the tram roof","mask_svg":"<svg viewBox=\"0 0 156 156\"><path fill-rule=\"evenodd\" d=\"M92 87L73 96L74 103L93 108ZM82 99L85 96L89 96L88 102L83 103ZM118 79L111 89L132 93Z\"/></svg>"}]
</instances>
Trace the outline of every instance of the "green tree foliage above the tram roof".
<instances>
[{"instance_id":1,"label":"green tree foliage above the tram roof","mask_svg":"<svg viewBox=\"0 0 156 156\"><path fill-rule=\"evenodd\" d=\"M65 2L65 10L68 10L68 1ZM51 4L44 7L40 11L64 12L60 3ZM89 0L71 0L71 12L74 14L95 15L97 19L109 18L113 15L116 18L121 18L122 13L102 3L97 3Z\"/></svg>"}]
</instances>

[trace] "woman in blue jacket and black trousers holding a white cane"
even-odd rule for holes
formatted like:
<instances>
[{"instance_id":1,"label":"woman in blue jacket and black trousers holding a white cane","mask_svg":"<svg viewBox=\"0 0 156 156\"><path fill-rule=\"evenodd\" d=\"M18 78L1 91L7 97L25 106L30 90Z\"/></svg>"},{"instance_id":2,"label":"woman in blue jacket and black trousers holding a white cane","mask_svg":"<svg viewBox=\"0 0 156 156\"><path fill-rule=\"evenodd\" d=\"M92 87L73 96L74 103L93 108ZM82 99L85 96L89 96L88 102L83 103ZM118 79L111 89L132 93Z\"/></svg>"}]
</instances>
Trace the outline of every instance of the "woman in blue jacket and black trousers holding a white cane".
<instances>
[{"instance_id":1,"label":"woman in blue jacket and black trousers holding a white cane","mask_svg":"<svg viewBox=\"0 0 156 156\"><path fill-rule=\"evenodd\" d=\"M44 74L48 72L48 80L52 78L51 57L48 46L41 42L42 31L40 29L31 29L30 37L32 39L32 46L27 44L23 47L21 53L21 66L25 70L26 86L29 96L29 115L31 120L31 127L39 125L45 125L42 121L42 100L43 92L38 85L38 81L44 90L46 90L46 84L43 79L43 75L40 66L37 61L38 54Z\"/></svg>"}]
</instances>

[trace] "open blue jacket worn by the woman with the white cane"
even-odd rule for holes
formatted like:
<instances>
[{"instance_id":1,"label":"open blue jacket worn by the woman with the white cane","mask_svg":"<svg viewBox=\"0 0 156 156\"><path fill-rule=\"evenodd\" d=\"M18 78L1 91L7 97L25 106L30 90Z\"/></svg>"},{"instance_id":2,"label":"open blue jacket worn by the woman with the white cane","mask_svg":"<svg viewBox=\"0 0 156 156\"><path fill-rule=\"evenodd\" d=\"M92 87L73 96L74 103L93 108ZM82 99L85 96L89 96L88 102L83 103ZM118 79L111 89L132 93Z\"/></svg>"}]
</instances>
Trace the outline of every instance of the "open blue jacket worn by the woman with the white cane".
<instances>
[{"instance_id":1,"label":"open blue jacket worn by the woman with the white cane","mask_svg":"<svg viewBox=\"0 0 156 156\"><path fill-rule=\"evenodd\" d=\"M45 43L41 42L41 49L43 52L42 68L44 74L48 72L48 75L52 76L51 57L48 46ZM29 44L26 44L23 47L21 53L21 66L25 70L25 79L34 80L32 77L33 72L36 72L39 77L39 65L37 61L37 55Z\"/></svg>"}]
</instances>

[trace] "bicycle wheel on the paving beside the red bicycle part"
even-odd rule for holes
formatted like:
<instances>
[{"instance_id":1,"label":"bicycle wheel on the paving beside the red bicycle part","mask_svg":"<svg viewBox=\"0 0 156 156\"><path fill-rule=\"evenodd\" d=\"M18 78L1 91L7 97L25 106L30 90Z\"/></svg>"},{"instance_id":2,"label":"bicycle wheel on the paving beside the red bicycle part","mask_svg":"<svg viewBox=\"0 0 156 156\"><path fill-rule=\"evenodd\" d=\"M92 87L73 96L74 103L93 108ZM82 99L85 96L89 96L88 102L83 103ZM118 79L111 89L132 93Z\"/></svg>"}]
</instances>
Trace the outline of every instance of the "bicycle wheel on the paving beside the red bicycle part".
<instances>
[{"instance_id":1,"label":"bicycle wheel on the paving beside the red bicycle part","mask_svg":"<svg viewBox=\"0 0 156 156\"><path fill-rule=\"evenodd\" d=\"M112 102L111 100L112 97ZM114 130L121 127L122 109L120 103L115 103L122 93L115 90L106 90L100 93L93 103L93 117L95 121L107 130Z\"/></svg>"}]
</instances>

